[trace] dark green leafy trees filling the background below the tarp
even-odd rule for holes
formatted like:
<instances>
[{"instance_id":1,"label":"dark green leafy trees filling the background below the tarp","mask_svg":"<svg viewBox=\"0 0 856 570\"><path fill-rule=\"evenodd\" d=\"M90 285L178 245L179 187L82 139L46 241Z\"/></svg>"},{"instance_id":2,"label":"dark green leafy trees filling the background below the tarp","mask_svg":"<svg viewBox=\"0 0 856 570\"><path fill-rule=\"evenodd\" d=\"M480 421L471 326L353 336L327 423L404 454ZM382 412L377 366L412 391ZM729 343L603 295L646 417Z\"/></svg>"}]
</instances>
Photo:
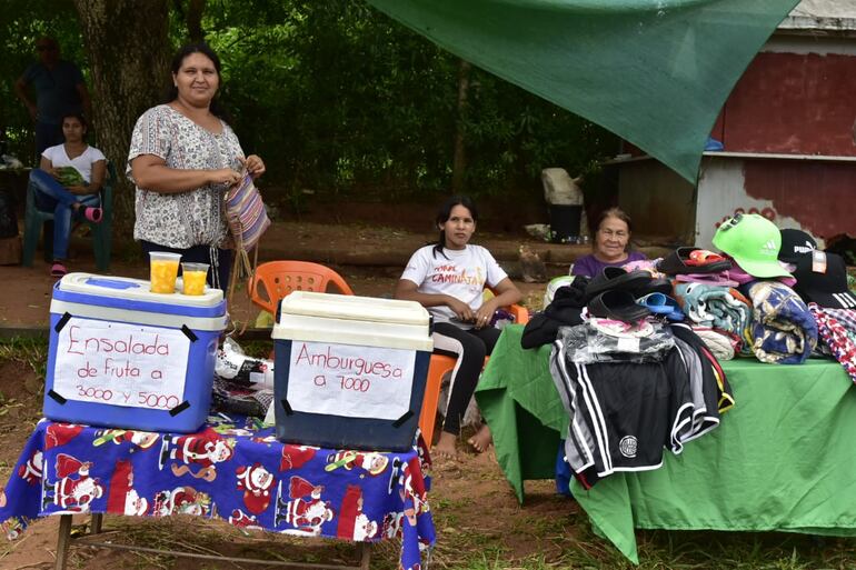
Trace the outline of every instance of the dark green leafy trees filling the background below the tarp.
<instances>
[{"instance_id":1,"label":"dark green leafy trees filling the background below the tarp","mask_svg":"<svg viewBox=\"0 0 856 570\"><path fill-rule=\"evenodd\" d=\"M191 1L172 3L173 47L187 41ZM543 168L578 173L615 152L615 138L603 129L478 69L459 114L457 58L361 0L203 7L199 23L223 63L220 97L245 151L266 159L266 184L282 198L297 200L303 189L445 193L458 128L465 187L476 196L531 191ZM0 127L10 150L28 157L31 127L12 83L33 60L33 40L57 37L63 57L84 73L88 61L69 0L0 0Z\"/></svg>"}]
</instances>

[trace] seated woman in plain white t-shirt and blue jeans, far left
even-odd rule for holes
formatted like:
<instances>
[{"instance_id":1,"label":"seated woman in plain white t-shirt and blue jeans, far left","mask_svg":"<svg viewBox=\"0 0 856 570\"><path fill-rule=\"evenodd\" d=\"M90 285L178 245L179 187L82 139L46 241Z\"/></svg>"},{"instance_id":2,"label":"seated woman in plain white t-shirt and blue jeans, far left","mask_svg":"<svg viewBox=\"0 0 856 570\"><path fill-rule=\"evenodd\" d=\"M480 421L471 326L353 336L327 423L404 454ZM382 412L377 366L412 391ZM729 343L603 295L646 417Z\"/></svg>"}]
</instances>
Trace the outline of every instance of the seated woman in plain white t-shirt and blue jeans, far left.
<instances>
[{"instance_id":1,"label":"seated woman in plain white t-shirt and blue jeans, far left","mask_svg":"<svg viewBox=\"0 0 856 570\"><path fill-rule=\"evenodd\" d=\"M62 277L68 271L64 261L68 259L71 218L101 221L99 191L107 172L107 159L100 150L86 143L86 133L83 116L63 117L66 142L44 149L39 168L30 172L30 182L36 188L36 207L53 212L53 264L50 269L53 277ZM64 170L67 168L80 176ZM68 186L62 186L62 181Z\"/></svg>"}]
</instances>

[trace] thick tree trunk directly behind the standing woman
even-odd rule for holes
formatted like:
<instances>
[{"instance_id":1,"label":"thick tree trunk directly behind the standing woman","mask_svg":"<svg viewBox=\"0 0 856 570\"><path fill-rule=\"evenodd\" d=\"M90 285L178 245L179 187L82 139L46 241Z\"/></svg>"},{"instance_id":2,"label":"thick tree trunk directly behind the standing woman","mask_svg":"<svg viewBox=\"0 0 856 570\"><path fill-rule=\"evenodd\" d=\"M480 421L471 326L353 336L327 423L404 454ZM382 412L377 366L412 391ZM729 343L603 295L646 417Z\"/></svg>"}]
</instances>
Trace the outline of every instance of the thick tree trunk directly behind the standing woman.
<instances>
[{"instance_id":1,"label":"thick tree trunk directly behind the standing woman","mask_svg":"<svg viewBox=\"0 0 856 570\"><path fill-rule=\"evenodd\" d=\"M118 242L130 240L133 186L125 176L139 116L162 102L169 86L168 0L74 0L92 73L97 147L119 174L113 191Z\"/></svg>"}]
</instances>

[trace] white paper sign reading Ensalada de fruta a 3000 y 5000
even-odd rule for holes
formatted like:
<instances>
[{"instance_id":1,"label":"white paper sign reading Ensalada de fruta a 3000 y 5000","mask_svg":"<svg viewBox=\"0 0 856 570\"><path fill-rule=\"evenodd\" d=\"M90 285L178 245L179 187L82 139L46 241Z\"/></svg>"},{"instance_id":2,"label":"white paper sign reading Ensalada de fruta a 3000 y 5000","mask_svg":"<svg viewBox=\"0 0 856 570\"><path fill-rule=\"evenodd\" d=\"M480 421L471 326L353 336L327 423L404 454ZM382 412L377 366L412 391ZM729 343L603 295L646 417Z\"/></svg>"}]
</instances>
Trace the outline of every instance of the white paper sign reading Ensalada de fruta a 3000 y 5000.
<instances>
[{"instance_id":1,"label":"white paper sign reading Ensalada de fruta a 3000 y 5000","mask_svg":"<svg viewBox=\"0 0 856 570\"><path fill-rule=\"evenodd\" d=\"M170 410L183 401L190 339L72 317L57 334L53 391L68 400Z\"/></svg>"}]
</instances>

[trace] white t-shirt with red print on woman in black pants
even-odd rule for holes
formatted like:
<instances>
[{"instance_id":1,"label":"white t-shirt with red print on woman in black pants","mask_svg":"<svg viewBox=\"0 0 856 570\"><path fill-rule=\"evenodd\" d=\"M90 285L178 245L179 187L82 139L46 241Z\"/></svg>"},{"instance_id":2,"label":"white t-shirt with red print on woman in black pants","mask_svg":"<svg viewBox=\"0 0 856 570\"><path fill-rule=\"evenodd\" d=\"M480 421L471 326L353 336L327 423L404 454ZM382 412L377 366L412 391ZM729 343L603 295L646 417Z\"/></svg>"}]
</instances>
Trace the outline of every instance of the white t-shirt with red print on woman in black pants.
<instances>
[{"instance_id":1,"label":"white t-shirt with red print on woman in black pants","mask_svg":"<svg viewBox=\"0 0 856 570\"><path fill-rule=\"evenodd\" d=\"M495 287L507 277L487 249L470 244L461 250L444 248L442 253L435 251L434 246L419 248L401 274L401 279L416 283L420 293L448 294L469 304L474 311L481 307L485 286ZM459 321L446 304L427 309L435 322L472 328L471 323Z\"/></svg>"}]
</instances>

